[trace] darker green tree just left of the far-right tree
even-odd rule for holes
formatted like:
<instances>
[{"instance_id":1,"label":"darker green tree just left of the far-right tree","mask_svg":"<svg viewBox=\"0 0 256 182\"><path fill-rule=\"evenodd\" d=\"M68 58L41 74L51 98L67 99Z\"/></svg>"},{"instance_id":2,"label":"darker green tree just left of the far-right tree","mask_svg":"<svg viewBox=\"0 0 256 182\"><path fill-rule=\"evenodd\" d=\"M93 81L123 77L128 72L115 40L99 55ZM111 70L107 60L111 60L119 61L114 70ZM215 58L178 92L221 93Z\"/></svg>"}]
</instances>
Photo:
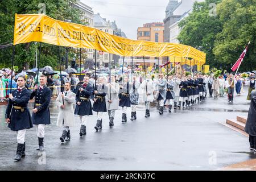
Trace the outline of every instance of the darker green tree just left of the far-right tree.
<instances>
[{"instance_id":1,"label":"darker green tree just left of the far-right tree","mask_svg":"<svg viewBox=\"0 0 256 182\"><path fill-rule=\"evenodd\" d=\"M218 63L213 55L214 40L216 34L221 31L222 23L216 16L210 16L210 3L220 3L221 0L206 0L205 2L195 2L192 13L182 19L179 23L181 32L178 40L181 44L186 44L199 49L207 54L206 64L210 67L218 67Z\"/></svg>"}]
</instances>

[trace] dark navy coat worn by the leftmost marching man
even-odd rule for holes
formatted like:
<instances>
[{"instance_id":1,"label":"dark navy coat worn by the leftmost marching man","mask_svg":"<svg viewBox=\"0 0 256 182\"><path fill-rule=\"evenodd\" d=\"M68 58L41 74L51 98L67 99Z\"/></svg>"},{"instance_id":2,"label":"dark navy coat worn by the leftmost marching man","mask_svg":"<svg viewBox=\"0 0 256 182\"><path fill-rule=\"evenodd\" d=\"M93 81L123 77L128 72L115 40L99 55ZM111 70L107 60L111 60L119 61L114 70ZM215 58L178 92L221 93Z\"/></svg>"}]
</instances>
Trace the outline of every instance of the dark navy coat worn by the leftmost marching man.
<instances>
[{"instance_id":1,"label":"dark navy coat worn by the leftmost marching man","mask_svg":"<svg viewBox=\"0 0 256 182\"><path fill-rule=\"evenodd\" d=\"M30 92L26 88L23 88L20 92L18 89L15 89L11 93L14 99L9 100L5 113L5 118L10 118L11 120L8 127L13 131L30 129L33 127L30 111L27 107L28 101L30 101ZM23 107L24 111L14 109L13 106Z\"/></svg>"}]
</instances>

